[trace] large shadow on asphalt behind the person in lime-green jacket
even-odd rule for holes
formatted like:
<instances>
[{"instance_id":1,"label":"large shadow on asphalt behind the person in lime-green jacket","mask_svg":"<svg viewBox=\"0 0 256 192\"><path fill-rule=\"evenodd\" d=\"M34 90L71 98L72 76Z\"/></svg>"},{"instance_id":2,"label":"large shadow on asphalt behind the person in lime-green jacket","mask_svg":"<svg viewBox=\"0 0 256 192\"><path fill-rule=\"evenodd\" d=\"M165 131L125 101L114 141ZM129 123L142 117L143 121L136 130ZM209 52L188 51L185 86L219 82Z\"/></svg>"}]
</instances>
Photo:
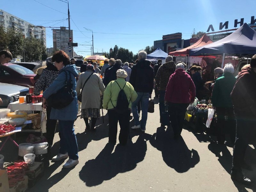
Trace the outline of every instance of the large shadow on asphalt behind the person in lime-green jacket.
<instances>
[{"instance_id":1,"label":"large shadow on asphalt behind the person in lime-green jacket","mask_svg":"<svg viewBox=\"0 0 256 192\"><path fill-rule=\"evenodd\" d=\"M135 135L139 135L135 143L129 139L126 146L117 144L116 148L114 144L107 143L95 159L84 164L79 177L86 186L100 185L103 181L114 178L118 173L135 169L137 164L143 161L147 151L146 140L149 140L151 135L135 132L131 136Z\"/></svg>"}]
</instances>

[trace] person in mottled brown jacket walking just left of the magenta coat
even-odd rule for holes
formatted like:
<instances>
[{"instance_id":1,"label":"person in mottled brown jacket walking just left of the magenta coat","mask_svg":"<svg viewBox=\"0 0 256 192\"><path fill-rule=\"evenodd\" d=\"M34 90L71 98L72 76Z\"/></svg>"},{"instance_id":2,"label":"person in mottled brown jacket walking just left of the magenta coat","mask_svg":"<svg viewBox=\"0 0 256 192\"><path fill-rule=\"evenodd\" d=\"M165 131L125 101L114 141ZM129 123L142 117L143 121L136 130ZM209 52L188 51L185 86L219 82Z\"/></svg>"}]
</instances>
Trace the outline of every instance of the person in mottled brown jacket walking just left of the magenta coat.
<instances>
[{"instance_id":1,"label":"person in mottled brown jacket walking just left of the magenta coat","mask_svg":"<svg viewBox=\"0 0 256 192\"><path fill-rule=\"evenodd\" d=\"M165 58L165 62L166 63L164 63L159 67L157 74L155 76L155 80L156 80L155 90L157 89L159 93L160 123L162 122L161 121L163 116L162 114L164 112L164 96L165 96L166 86L169 82L170 76L174 73L176 68L175 62L172 61L172 56L168 55Z\"/></svg>"}]
</instances>

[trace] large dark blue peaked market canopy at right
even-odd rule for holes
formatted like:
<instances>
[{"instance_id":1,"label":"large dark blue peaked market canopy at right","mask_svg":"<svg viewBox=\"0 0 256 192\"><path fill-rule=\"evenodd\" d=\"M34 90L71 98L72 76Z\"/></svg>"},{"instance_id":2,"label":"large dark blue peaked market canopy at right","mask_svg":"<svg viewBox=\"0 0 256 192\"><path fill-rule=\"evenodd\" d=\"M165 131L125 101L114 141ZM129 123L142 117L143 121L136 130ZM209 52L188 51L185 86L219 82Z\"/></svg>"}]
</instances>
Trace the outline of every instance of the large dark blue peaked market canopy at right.
<instances>
[{"instance_id":1,"label":"large dark blue peaked market canopy at right","mask_svg":"<svg viewBox=\"0 0 256 192\"><path fill-rule=\"evenodd\" d=\"M189 51L189 56L222 55L249 56L256 53L256 31L247 23L229 36Z\"/></svg>"}]
</instances>

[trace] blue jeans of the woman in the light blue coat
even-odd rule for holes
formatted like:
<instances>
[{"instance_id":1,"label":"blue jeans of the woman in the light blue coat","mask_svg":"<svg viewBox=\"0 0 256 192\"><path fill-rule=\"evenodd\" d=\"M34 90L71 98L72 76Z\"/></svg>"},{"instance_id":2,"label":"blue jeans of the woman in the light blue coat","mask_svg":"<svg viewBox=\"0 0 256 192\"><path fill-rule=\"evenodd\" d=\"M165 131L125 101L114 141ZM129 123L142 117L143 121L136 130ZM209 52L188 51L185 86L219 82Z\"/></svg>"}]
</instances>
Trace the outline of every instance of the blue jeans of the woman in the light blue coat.
<instances>
[{"instance_id":1,"label":"blue jeans of the woman in the light blue coat","mask_svg":"<svg viewBox=\"0 0 256 192\"><path fill-rule=\"evenodd\" d=\"M59 120L60 154L68 152L70 159L78 159L78 146L74 130L74 121Z\"/></svg>"}]
</instances>

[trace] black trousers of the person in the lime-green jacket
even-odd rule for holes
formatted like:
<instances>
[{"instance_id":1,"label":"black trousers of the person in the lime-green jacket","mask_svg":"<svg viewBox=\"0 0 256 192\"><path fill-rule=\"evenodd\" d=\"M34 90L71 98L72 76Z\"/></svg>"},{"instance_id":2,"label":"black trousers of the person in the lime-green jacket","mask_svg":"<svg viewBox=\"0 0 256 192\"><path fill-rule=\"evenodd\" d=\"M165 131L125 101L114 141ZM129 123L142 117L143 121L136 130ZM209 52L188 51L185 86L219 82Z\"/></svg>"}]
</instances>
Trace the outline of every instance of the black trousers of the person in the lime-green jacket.
<instances>
[{"instance_id":1,"label":"black trousers of the person in the lime-green jacket","mask_svg":"<svg viewBox=\"0 0 256 192\"><path fill-rule=\"evenodd\" d=\"M130 132L130 110L124 113L117 113L116 110L108 110L108 141L116 143L117 123L119 121L120 133L119 143L126 145Z\"/></svg>"}]
</instances>

